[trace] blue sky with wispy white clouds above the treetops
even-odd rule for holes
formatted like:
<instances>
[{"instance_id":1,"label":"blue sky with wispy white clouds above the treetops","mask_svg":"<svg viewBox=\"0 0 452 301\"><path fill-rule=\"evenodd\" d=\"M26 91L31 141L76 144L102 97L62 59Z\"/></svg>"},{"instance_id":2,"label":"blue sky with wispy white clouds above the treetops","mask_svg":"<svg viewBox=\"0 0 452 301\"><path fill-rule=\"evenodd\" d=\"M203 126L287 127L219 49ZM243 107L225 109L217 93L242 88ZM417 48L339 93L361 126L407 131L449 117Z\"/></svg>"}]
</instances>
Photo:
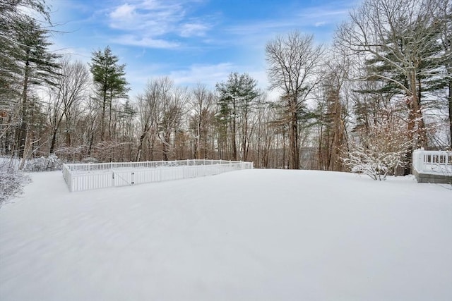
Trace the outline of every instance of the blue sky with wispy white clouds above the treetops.
<instances>
[{"instance_id":1,"label":"blue sky with wispy white clouds above the treetops","mask_svg":"<svg viewBox=\"0 0 452 301\"><path fill-rule=\"evenodd\" d=\"M151 78L214 88L231 72L249 73L267 87L265 44L292 30L331 42L355 1L333 0L48 0L65 32L54 49L89 62L112 48L126 63L131 97Z\"/></svg>"}]
</instances>

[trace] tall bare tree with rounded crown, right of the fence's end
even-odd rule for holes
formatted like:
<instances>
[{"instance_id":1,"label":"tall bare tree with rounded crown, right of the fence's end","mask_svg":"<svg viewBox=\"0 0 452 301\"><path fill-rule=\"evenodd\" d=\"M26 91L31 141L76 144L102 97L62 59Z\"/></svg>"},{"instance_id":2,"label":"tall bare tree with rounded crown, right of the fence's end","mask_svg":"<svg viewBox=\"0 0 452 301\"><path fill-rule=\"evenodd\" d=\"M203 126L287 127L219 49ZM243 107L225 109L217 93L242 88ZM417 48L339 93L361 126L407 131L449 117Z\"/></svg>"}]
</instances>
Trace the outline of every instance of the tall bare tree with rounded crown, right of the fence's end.
<instances>
[{"instance_id":1,"label":"tall bare tree with rounded crown, right of the fence's end","mask_svg":"<svg viewBox=\"0 0 452 301\"><path fill-rule=\"evenodd\" d=\"M289 167L298 169L299 122L309 95L319 85L319 64L323 47L314 46L312 35L291 32L278 36L266 44L268 80L271 89L283 92L289 128Z\"/></svg>"}]
</instances>

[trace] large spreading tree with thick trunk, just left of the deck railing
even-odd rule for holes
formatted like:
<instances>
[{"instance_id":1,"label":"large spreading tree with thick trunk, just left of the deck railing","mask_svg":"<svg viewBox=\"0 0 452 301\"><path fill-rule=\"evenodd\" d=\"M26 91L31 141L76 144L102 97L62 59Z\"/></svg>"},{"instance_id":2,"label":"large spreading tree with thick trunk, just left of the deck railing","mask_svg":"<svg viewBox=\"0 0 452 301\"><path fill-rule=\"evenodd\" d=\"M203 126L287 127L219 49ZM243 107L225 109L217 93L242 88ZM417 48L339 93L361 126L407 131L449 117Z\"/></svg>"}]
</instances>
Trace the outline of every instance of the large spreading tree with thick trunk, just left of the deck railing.
<instances>
[{"instance_id":1,"label":"large spreading tree with thick trunk, just left of the deck railing","mask_svg":"<svg viewBox=\"0 0 452 301\"><path fill-rule=\"evenodd\" d=\"M436 0L367 0L350 13L350 22L340 27L338 41L355 52L382 61L394 71L367 74L365 79L381 78L405 93L408 107L408 133L412 149L427 146L420 77L437 76L435 68L422 63L434 60L432 43L438 39L438 1ZM386 68L387 69L387 68Z\"/></svg>"}]
</instances>

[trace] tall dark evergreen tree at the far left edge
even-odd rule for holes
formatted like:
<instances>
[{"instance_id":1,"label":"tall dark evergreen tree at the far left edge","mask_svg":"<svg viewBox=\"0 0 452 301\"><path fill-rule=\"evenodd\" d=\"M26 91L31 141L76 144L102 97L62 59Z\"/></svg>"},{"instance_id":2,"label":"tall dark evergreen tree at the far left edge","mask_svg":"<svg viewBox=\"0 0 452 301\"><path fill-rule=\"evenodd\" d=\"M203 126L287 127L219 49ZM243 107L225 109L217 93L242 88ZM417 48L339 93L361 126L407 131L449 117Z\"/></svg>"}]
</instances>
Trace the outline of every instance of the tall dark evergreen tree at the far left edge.
<instances>
[{"instance_id":1,"label":"tall dark evergreen tree at the far left edge","mask_svg":"<svg viewBox=\"0 0 452 301\"><path fill-rule=\"evenodd\" d=\"M44 1L0 0L1 150L4 154L12 154L18 148L20 141L20 156L23 156L27 128L26 116L23 115L27 105L27 98L23 94L24 84L27 84L25 90L28 92L28 79L37 74L35 67L39 69L45 64L34 61L34 59L39 59L39 57L42 59L42 50L47 51L49 45L46 37L47 30L43 30L37 21L28 15L27 11L42 16L48 23L50 21L49 8ZM40 42L43 44L37 46ZM28 53L28 59L31 61L25 59L27 56L25 52ZM25 66L27 61L29 66ZM27 70L26 73L25 70ZM25 122L23 122L24 120ZM14 128L14 125L17 124L21 124L21 126Z\"/></svg>"}]
</instances>

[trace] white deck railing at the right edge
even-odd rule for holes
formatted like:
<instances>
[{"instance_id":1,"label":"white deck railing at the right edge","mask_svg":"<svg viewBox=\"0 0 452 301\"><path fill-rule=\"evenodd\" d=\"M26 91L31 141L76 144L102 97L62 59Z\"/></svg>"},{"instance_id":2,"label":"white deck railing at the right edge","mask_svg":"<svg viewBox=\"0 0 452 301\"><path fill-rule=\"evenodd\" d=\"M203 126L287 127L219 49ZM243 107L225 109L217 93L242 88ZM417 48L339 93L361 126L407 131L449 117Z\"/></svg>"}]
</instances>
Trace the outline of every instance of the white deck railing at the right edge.
<instances>
[{"instance_id":1,"label":"white deck railing at the right edge","mask_svg":"<svg viewBox=\"0 0 452 301\"><path fill-rule=\"evenodd\" d=\"M451 176L452 152L416 149L412 152L412 167L417 173Z\"/></svg>"}]
</instances>

